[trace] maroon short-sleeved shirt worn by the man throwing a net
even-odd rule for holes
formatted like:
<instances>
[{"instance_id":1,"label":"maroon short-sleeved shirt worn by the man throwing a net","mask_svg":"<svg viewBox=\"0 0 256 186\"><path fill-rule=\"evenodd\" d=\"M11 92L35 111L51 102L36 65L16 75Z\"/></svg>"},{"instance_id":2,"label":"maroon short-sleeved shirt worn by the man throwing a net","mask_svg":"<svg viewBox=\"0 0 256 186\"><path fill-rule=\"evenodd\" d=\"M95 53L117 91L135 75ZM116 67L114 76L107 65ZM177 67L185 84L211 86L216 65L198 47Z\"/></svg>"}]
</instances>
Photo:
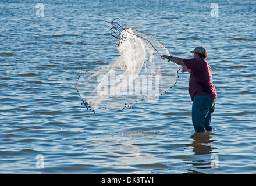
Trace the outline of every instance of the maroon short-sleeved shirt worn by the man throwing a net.
<instances>
[{"instance_id":1,"label":"maroon short-sleeved shirt worn by the man throwing a net","mask_svg":"<svg viewBox=\"0 0 256 186\"><path fill-rule=\"evenodd\" d=\"M207 95L213 99L217 93L212 84L212 70L205 59L183 59L184 64L191 69L189 78L189 94L194 100L197 95Z\"/></svg>"}]
</instances>

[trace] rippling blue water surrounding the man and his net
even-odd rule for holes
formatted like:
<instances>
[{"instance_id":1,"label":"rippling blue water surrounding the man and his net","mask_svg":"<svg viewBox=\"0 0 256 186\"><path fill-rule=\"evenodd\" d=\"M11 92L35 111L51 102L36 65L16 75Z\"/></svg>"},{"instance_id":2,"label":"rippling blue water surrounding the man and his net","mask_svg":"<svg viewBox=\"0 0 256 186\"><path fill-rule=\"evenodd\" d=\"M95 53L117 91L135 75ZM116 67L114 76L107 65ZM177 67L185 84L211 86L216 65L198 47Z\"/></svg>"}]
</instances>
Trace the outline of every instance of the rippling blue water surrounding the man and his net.
<instances>
[{"instance_id":1,"label":"rippling blue water surrounding the man and his net","mask_svg":"<svg viewBox=\"0 0 256 186\"><path fill-rule=\"evenodd\" d=\"M40 1L44 17L38 2L0 1L0 173L256 173L254 1ZM81 105L79 74L118 56L116 17L172 55L208 49L214 131L194 133L186 73L157 103Z\"/></svg>"}]
</instances>

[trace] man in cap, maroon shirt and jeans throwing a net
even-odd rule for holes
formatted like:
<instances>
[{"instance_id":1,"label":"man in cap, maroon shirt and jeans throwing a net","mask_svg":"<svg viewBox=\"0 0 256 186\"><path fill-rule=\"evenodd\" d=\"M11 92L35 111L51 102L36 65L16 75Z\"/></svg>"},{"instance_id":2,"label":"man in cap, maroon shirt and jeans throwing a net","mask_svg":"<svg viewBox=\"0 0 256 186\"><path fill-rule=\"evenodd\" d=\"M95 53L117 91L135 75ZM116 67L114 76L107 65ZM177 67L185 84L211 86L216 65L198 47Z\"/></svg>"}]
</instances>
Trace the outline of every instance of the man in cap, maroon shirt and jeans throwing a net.
<instances>
[{"instance_id":1,"label":"man in cap, maroon shirt and jeans throwing a net","mask_svg":"<svg viewBox=\"0 0 256 186\"><path fill-rule=\"evenodd\" d=\"M177 63L183 67L182 72L188 71L189 94L192 105L192 122L196 132L212 131L211 119L215 109L217 93L212 84L211 67L205 60L207 51L204 47L195 47L193 59L183 59L173 56L163 55L168 61Z\"/></svg>"}]
</instances>

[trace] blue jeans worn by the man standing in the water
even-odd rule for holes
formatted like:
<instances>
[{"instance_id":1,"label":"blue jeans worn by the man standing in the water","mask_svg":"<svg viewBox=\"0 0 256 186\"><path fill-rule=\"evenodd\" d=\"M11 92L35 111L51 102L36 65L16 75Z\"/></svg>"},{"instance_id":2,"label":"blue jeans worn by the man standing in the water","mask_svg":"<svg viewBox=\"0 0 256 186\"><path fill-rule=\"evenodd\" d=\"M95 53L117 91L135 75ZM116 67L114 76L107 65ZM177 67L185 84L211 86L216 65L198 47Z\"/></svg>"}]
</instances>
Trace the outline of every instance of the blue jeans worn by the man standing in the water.
<instances>
[{"instance_id":1,"label":"blue jeans worn by the man standing in the water","mask_svg":"<svg viewBox=\"0 0 256 186\"><path fill-rule=\"evenodd\" d=\"M211 120L215 102L215 99L207 95L195 96L192 105L192 122L195 132L212 131Z\"/></svg>"}]
</instances>

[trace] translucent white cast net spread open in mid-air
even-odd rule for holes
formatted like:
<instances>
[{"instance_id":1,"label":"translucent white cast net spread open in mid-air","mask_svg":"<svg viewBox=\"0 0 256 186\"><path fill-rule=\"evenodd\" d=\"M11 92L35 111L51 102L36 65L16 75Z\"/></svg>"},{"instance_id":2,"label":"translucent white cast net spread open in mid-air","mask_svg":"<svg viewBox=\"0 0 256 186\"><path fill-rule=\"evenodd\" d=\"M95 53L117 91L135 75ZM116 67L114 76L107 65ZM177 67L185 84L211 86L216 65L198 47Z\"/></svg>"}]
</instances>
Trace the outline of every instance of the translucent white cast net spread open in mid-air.
<instances>
[{"instance_id":1,"label":"translucent white cast net spread open in mid-air","mask_svg":"<svg viewBox=\"0 0 256 186\"><path fill-rule=\"evenodd\" d=\"M123 28L119 20L108 23L120 56L80 74L76 88L83 104L93 111L121 110L139 101L157 101L176 84L179 67L161 58L169 52L150 35Z\"/></svg>"}]
</instances>

